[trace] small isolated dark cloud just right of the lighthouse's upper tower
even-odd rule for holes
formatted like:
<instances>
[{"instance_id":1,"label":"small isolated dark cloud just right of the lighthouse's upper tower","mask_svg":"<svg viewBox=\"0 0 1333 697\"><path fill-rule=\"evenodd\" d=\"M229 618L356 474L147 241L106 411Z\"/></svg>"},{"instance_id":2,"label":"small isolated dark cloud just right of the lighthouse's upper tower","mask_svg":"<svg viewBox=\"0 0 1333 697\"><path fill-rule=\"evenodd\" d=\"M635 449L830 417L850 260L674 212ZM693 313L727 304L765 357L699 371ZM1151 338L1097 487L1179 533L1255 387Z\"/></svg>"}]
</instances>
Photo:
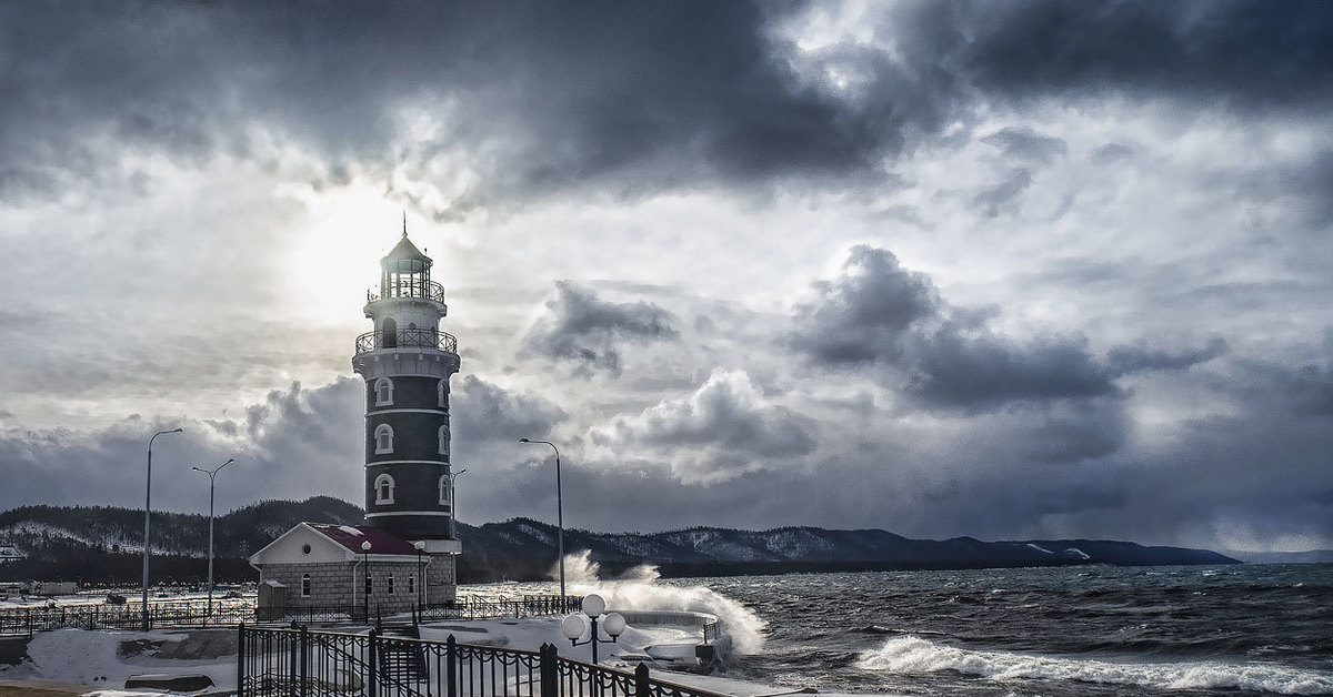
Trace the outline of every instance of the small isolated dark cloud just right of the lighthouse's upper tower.
<instances>
[{"instance_id":1,"label":"small isolated dark cloud just right of the lighthouse's upper tower","mask_svg":"<svg viewBox=\"0 0 1333 697\"><path fill-rule=\"evenodd\" d=\"M607 370L620 374L621 344L672 340L674 317L647 301L611 303L591 288L556 283L556 297L547 301L547 315L523 339L529 354L573 362L580 373Z\"/></svg>"}]
</instances>

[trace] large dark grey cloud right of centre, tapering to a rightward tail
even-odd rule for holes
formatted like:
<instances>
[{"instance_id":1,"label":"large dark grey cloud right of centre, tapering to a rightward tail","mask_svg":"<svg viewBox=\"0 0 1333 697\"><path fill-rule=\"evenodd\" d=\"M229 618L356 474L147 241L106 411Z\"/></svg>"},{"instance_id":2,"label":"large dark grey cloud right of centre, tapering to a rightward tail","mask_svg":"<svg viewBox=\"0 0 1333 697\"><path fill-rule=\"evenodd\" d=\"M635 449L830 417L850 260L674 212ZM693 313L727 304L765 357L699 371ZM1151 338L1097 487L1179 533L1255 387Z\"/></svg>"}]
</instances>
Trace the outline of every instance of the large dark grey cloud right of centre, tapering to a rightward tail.
<instances>
[{"instance_id":1,"label":"large dark grey cloud right of centre, tapering to a rightward tail","mask_svg":"<svg viewBox=\"0 0 1333 697\"><path fill-rule=\"evenodd\" d=\"M852 248L837 279L812 284L810 295L796 308L793 348L826 365L877 366L929 408L1116 396L1120 376L1184 370L1226 349L1221 339L1181 352L1117 347L1101 360L1081 335L1017 341L988 328L996 309L952 307L926 275L864 245Z\"/></svg>"}]
</instances>

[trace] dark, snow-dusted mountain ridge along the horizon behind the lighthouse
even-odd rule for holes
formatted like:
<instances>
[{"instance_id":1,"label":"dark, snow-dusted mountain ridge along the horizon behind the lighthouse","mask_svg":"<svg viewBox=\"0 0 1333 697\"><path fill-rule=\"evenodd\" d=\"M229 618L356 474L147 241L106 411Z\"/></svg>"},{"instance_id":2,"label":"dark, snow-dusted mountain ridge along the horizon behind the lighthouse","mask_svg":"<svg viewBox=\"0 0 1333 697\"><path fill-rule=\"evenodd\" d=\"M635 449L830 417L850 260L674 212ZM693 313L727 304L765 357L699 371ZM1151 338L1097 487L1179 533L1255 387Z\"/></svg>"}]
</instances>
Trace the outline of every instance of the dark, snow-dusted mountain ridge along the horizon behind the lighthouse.
<instances>
[{"instance_id":1,"label":"dark, snow-dusted mountain ridge along the horizon behind the lighthouse","mask_svg":"<svg viewBox=\"0 0 1333 697\"><path fill-rule=\"evenodd\" d=\"M129 582L139 578L143 512L107 506L21 506L0 513L0 544L27 558L0 564L0 580L43 578ZM263 501L219 516L219 578L252 580L244 561L301 521L360 524L360 508L332 497ZM556 565L553 525L531 518L459 524L464 582L547 578ZM1144 546L1108 540L985 542L972 537L912 540L885 530L770 530L688 528L661 533L565 530L565 550L588 550L611 573L657 566L664 576L722 576L878 569L978 569L1080 564L1237 564L1204 549ZM197 581L208 552L208 517L153 513L155 578Z\"/></svg>"}]
</instances>

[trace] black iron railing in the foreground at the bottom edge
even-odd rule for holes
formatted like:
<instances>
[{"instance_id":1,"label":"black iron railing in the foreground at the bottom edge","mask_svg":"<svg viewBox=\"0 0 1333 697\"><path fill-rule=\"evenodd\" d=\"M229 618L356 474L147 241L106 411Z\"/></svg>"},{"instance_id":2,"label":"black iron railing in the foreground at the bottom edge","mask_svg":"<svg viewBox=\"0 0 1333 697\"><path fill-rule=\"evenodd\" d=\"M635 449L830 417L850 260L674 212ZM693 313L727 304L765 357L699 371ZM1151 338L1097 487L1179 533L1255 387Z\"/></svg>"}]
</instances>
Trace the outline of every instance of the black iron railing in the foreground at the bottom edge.
<instances>
[{"instance_id":1,"label":"black iron railing in the foreground at the bottom edge","mask_svg":"<svg viewBox=\"0 0 1333 697\"><path fill-rule=\"evenodd\" d=\"M556 646L504 649L411 637L241 625L237 697L718 697L633 672L561 658Z\"/></svg>"}]
</instances>

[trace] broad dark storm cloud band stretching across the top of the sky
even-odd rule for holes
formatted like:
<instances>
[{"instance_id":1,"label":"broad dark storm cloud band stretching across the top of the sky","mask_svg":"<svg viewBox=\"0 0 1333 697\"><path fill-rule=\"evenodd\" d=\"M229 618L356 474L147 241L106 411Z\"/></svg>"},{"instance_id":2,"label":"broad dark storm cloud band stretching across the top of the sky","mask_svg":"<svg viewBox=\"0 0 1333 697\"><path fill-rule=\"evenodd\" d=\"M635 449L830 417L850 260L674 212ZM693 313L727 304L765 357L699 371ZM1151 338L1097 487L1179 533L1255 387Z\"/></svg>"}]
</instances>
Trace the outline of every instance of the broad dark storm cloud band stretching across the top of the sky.
<instances>
[{"instance_id":1,"label":"broad dark storm cloud band stretching across the top of the sky","mask_svg":"<svg viewBox=\"0 0 1333 697\"><path fill-rule=\"evenodd\" d=\"M467 167L485 185L429 204L449 217L483 196L589 183L643 195L792 176L880 181L886 159L993 97L1128 93L1250 109L1333 95L1324 3L897 4L878 12L893 52L802 51L774 31L821 9L11 3L0 8L0 196L119 180L111 147L183 163L249 156L259 128L320 152L329 184L352 161L421 177ZM836 85L830 72L852 79ZM413 105L445 123L404 145ZM998 137L1029 156L1053 147Z\"/></svg>"}]
</instances>

